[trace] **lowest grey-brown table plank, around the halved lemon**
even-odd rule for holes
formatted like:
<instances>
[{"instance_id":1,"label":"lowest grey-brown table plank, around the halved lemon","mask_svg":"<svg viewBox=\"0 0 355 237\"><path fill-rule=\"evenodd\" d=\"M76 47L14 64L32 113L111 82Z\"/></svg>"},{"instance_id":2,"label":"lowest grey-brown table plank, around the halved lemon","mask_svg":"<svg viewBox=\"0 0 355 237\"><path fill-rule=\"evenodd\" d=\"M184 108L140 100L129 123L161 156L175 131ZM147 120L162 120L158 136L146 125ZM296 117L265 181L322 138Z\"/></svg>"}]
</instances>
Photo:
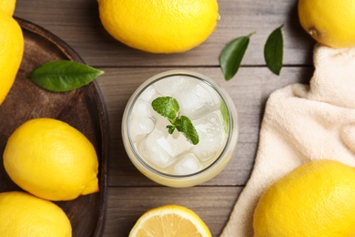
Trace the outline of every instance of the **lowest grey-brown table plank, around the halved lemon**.
<instances>
[{"instance_id":1,"label":"lowest grey-brown table plank, around the halved lemon","mask_svg":"<svg viewBox=\"0 0 355 237\"><path fill-rule=\"evenodd\" d=\"M236 201L236 194L240 191L238 187L188 189L126 187L110 190L108 203L112 211L106 216L104 236L128 236L137 219L145 211L167 204L182 205L195 211L206 222L213 236L217 236L228 221L228 215ZM144 195L145 193L149 195ZM223 201L216 195L217 193L224 194ZM189 198L181 199L181 196Z\"/></svg>"}]
</instances>

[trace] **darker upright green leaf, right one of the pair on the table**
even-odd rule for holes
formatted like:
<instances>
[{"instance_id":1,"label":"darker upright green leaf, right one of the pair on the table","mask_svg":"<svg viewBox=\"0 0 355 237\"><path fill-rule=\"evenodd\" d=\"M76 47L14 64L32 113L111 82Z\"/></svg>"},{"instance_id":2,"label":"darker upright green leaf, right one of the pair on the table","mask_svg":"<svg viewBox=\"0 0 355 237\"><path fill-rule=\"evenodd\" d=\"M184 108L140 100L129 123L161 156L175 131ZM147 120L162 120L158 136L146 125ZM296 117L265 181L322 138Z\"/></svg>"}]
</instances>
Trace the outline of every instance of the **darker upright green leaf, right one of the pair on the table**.
<instances>
[{"instance_id":1,"label":"darker upright green leaf, right one of the pair on the table","mask_svg":"<svg viewBox=\"0 0 355 237\"><path fill-rule=\"evenodd\" d=\"M279 75L283 60L282 26L275 29L268 37L264 46L264 58L270 71Z\"/></svg>"}]
</instances>

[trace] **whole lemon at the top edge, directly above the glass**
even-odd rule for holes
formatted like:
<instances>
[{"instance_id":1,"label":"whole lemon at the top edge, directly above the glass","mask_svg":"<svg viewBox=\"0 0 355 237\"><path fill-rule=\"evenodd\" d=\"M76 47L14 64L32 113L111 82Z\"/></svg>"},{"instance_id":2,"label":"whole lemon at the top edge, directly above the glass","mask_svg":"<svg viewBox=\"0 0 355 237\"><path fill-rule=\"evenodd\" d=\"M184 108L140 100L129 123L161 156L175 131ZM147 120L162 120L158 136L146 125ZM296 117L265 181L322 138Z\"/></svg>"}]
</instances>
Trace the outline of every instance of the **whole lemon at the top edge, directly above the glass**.
<instances>
[{"instance_id":1,"label":"whole lemon at the top edge, directly above the glass","mask_svg":"<svg viewBox=\"0 0 355 237\"><path fill-rule=\"evenodd\" d=\"M217 26L217 0L98 0L106 31L150 53L179 53L200 45Z\"/></svg>"}]
</instances>

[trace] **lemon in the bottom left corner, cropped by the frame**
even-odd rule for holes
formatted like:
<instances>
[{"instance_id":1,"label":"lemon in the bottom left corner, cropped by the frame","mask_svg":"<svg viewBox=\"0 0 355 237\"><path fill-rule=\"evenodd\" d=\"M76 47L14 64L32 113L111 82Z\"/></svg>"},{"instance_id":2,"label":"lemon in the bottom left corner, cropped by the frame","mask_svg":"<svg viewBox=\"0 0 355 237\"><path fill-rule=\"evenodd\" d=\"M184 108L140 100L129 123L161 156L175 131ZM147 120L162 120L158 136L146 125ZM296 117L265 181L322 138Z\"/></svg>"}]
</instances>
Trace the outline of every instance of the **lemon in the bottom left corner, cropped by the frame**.
<instances>
[{"instance_id":1,"label":"lemon in the bottom left corner, cropped by the frame","mask_svg":"<svg viewBox=\"0 0 355 237\"><path fill-rule=\"evenodd\" d=\"M66 213L52 201L24 191L0 193L1 236L72 236Z\"/></svg>"}]
</instances>

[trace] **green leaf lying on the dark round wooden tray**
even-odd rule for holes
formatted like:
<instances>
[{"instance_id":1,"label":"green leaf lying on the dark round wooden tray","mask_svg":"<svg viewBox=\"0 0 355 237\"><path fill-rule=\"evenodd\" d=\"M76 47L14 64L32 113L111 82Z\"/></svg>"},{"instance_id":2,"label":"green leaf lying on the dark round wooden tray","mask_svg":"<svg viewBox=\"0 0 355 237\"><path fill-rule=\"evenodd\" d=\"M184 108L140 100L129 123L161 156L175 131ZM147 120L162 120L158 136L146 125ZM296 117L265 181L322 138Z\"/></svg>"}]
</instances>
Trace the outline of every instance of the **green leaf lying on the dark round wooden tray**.
<instances>
[{"instance_id":1,"label":"green leaf lying on the dark round wooden tray","mask_svg":"<svg viewBox=\"0 0 355 237\"><path fill-rule=\"evenodd\" d=\"M41 88L65 92L81 88L103 73L75 61L59 60L36 67L28 77Z\"/></svg>"}]
</instances>

